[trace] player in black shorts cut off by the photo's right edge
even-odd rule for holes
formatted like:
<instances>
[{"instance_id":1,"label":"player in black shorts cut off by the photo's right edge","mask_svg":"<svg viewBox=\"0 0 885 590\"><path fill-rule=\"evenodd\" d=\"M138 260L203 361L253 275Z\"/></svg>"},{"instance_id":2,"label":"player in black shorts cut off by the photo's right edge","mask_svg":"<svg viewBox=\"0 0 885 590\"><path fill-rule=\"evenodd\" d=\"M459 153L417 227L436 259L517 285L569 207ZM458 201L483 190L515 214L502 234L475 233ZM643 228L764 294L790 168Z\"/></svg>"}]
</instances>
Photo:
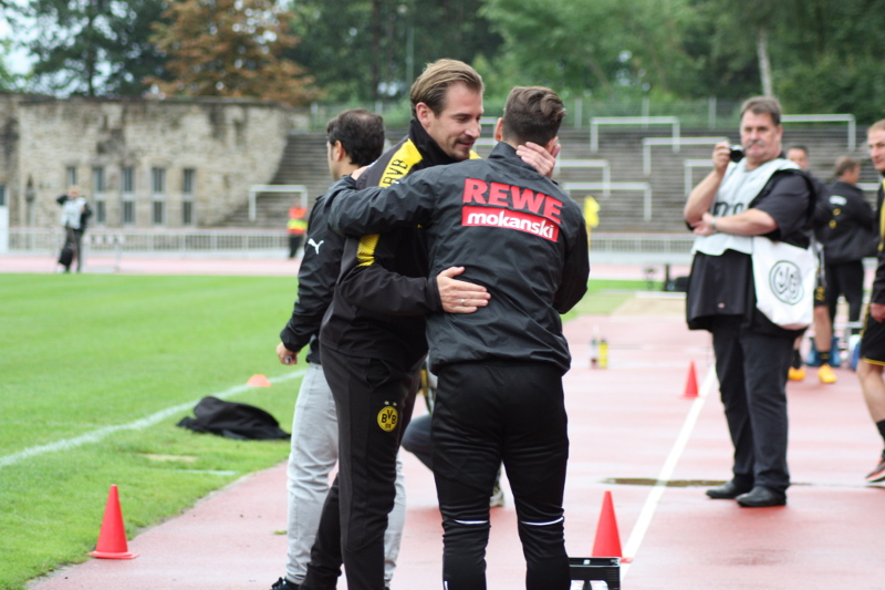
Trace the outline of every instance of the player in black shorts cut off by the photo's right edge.
<instances>
[{"instance_id":1,"label":"player in black shorts cut off by the photo's right edge","mask_svg":"<svg viewBox=\"0 0 885 590\"><path fill-rule=\"evenodd\" d=\"M873 123L866 132L870 157L873 166L885 177L885 118ZM873 294L866 312L864 331L861 335L861 362L857 363L857 377L864 392L870 416L885 439L885 179L876 196L876 219L878 222L878 265L873 280ZM866 475L871 484L885 482L885 451L876 467Z\"/></svg>"}]
</instances>

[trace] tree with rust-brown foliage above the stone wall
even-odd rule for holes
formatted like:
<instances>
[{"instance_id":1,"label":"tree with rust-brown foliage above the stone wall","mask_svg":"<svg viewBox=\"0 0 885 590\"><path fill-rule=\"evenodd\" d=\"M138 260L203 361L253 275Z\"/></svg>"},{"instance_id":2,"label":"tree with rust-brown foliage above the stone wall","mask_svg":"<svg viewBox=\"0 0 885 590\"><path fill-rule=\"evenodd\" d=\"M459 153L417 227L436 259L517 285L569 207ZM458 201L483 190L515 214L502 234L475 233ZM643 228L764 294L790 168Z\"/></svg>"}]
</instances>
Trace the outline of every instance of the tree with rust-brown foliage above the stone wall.
<instances>
[{"instance_id":1,"label":"tree with rust-brown foliage above the stone wall","mask_svg":"<svg viewBox=\"0 0 885 590\"><path fill-rule=\"evenodd\" d=\"M160 92L243 96L306 104L319 96L313 77L282 52L298 44L290 14L272 0L178 0L155 24L152 40L167 55Z\"/></svg>"}]
</instances>

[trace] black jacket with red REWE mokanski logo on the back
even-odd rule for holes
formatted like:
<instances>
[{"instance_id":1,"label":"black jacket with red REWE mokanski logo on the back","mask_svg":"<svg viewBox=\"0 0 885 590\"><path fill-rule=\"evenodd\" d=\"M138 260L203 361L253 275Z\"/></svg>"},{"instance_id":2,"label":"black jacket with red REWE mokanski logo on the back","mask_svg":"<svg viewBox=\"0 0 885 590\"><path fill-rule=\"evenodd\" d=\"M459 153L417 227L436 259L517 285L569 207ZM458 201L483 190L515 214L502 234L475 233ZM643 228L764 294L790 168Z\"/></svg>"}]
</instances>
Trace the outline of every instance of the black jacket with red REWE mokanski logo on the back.
<instances>
[{"instance_id":1,"label":"black jacket with red REWE mokanski logo on the back","mask_svg":"<svg viewBox=\"0 0 885 590\"><path fill-rule=\"evenodd\" d=\"M499 143L488 159L431 168L389 188L354 188L343 178L330 189L333 229L384 235L420 224L430 276L462 266L457 278L491 294L475 313L428 314L431 369L504 360L569 370L560 313L586 292L586 227L577 204L513 147Z\"/></svg>"}]
</instances>

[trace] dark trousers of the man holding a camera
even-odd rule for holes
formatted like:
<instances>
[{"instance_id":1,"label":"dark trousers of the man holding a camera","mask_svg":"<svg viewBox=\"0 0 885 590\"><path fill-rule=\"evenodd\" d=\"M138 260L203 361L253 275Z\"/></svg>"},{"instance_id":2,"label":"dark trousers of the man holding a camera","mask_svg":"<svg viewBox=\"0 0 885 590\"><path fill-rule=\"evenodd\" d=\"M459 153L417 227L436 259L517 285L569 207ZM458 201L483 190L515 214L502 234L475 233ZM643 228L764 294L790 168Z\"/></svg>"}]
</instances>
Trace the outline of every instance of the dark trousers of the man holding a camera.
<instances>
[{"instance_id":1,"label":"dark trousers of the man holding a camera","mask_svg":"<svg viewBox=\"0 0 885 590\"><path fill-rule=\"evenodd\" d=\"M793 338L741 328L738 315L712 323L719 392L735 445L735 480L778 491L790 486L787 468L787 373Z\"/></svg>"}]
</instances>

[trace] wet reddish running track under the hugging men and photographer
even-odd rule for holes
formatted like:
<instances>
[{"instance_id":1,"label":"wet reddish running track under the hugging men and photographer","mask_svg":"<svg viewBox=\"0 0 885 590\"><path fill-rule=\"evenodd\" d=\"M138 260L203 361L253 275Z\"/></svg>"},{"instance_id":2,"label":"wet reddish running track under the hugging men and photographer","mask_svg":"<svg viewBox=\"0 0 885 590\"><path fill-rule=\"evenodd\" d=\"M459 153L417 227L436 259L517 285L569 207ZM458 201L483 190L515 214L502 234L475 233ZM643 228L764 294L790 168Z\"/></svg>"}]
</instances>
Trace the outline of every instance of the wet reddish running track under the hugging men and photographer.
<instances>
[{"instance_id":1,"label":"wet reddish running track under the hugging men and photographer","mask_svg":"<svg viewBox=\"0 0 885 590\"><path fill-rule=\"evenodd\" d=\"M653 300L643 301L633 309L659 310ZM863 482L882 441L854 373L837 370L839 383L822 385L811 370L804 382L789 385L794 485L787 507L710 500L704 489L729 477L731 446L707 375L709 337L687 331L678 303L674 308L658 315L583 317L565 327L574 355L565 376L570 555L590 555L603 495L611 490L624 551L634 558L623 570L625 589L885 589L885 497L882 487ZM589 368L595 327L611 346L605 370ZM690 361L707 397L681 397ZM405 460L408 515L393 589L440 588L433 478L410 455ZM679 487L655 486L662 474ZM125 490L121 497L125 515ZM268 589L283 571L284 513L281 465L142 532L129 542L137 559L92 559L32 588ZM508 490L507 506L492 510L489 589L522 588L523 576Z\"/></svg>"}]
</instances>

